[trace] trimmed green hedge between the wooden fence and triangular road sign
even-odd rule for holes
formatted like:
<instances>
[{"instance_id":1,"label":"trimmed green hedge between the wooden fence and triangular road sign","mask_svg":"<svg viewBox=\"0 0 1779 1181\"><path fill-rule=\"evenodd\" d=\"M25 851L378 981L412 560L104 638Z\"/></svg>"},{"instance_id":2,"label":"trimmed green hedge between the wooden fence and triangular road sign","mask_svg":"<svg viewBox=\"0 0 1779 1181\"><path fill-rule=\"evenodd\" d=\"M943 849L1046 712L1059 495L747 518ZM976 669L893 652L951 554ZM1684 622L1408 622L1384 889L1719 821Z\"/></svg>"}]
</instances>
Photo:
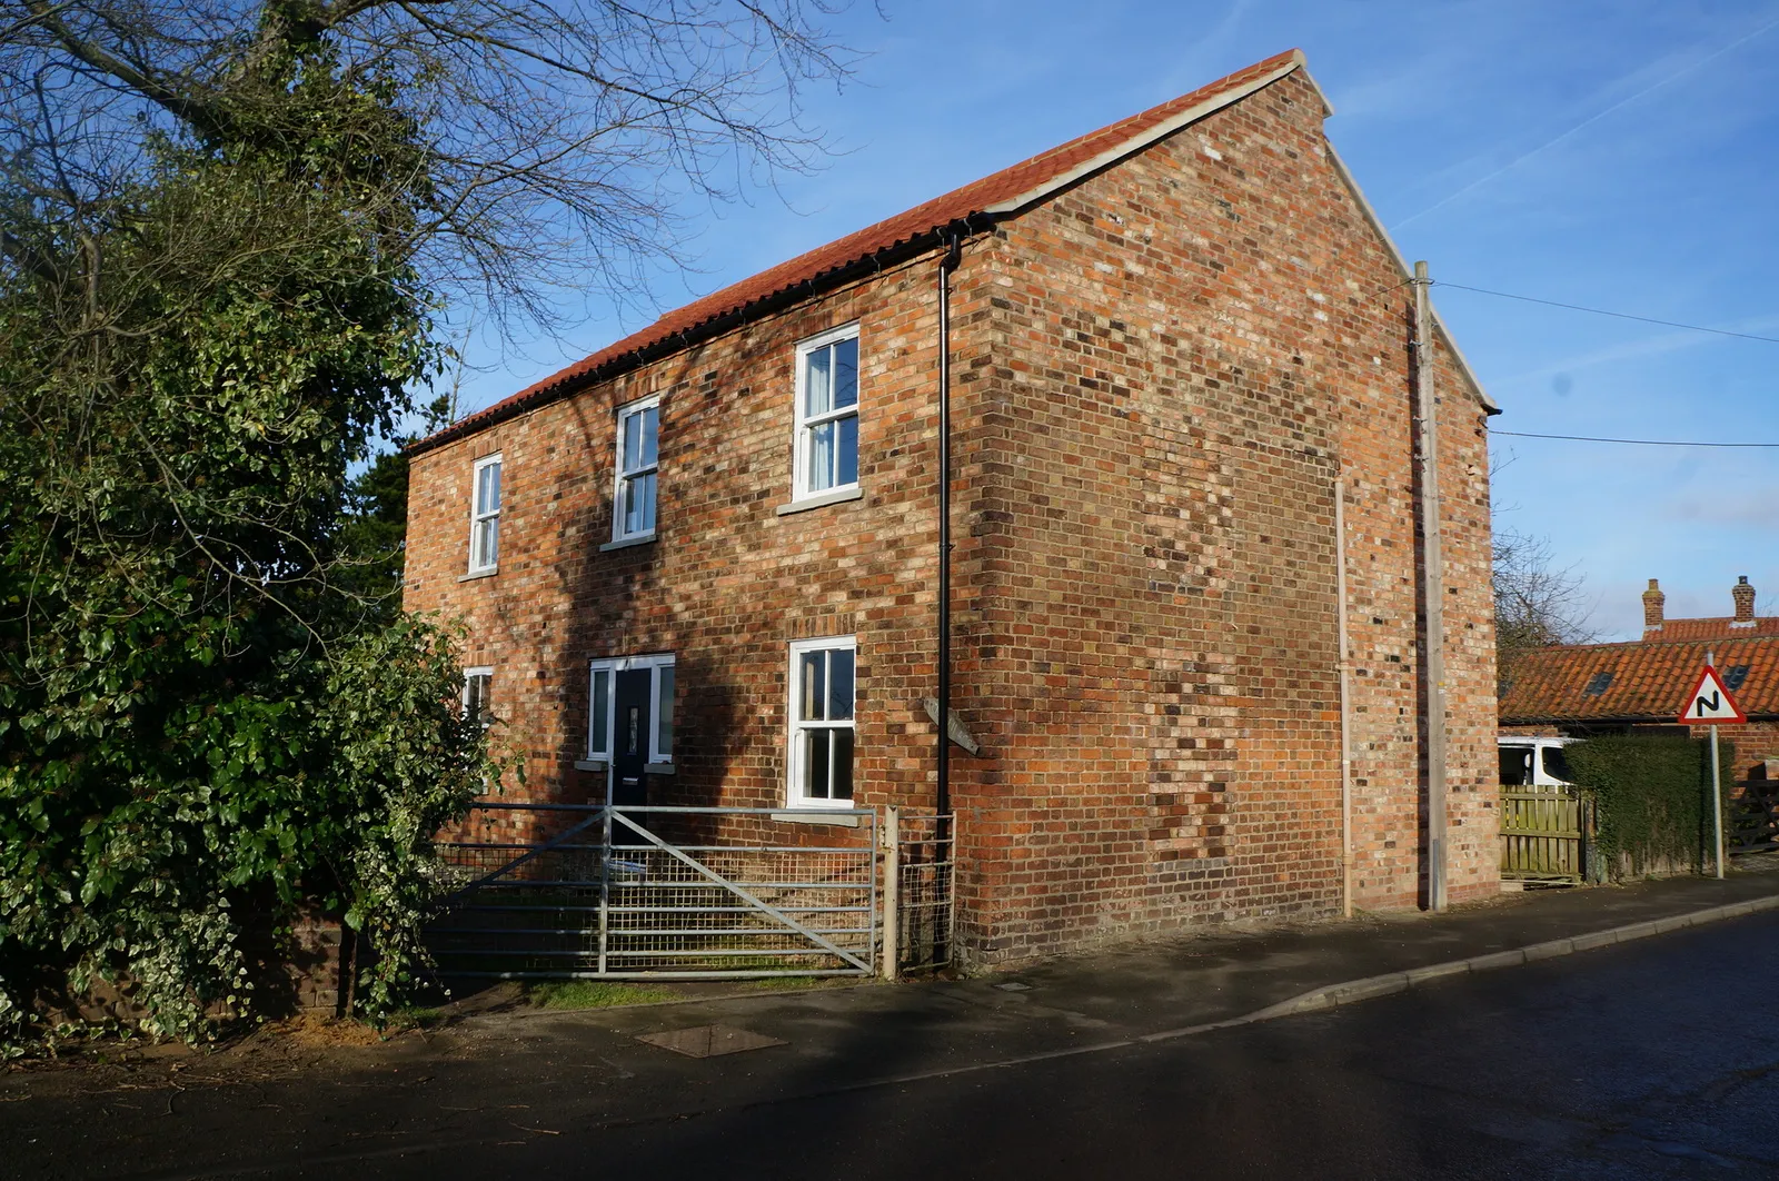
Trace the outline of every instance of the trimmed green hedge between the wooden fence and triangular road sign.
<instances>
[{"instance_id":1,"label":"trimmed green hedge between the wooden fence and triangular road sign","mask_svg":"<svg viewBox=\"0 0 1779 1181\"><path fill-rule=\"evenodd\" d=\"M1711 850L1711 743L1678 735L1614 735L1564 747L1574 783L1594 797L1594 848L1608 877L1701 870ZM1727 795L1735 743L1720 743ZM1727 807L1724 809L1727 815Z\"/></svg>"}]
</instances>

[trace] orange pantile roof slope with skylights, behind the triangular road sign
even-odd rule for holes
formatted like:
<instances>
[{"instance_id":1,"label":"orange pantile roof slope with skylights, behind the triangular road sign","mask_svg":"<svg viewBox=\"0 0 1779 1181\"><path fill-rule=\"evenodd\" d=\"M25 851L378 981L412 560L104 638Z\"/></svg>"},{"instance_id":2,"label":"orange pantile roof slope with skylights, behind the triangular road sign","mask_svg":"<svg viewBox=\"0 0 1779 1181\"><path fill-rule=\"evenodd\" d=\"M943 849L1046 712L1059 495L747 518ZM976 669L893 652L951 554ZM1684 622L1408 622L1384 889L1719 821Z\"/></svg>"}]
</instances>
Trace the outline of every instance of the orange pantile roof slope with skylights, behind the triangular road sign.
<instances>
[{"instance_id":1,"label":"orange pantile roof slope with skylights, behind the triangular road sign","mask_svg":"<svg viewBox=\"0 0 1779 1181\"><path fill-rule=\"evenodd\" d=\"M1501 722L1674 722L1708 651L1743 713L1779 717L1779 635L1743 633L1708 642L1663 635L1660 642L1526 653L1514 663L1501 697Z\"/></svg>"}]
</instances>

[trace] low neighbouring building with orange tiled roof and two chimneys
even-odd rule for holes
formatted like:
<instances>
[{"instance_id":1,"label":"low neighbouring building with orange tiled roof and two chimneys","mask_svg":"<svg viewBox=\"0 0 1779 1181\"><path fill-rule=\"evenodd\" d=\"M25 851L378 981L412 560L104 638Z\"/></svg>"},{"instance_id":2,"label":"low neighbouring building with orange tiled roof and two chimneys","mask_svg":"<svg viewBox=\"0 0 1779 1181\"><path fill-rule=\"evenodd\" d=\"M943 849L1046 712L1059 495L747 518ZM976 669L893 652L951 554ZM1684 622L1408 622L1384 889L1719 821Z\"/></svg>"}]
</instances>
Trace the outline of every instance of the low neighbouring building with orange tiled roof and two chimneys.
<instances>
[{"instance_id":1,"label":"low neighbouring building with orange tiled roof and two chimneys","mask_svg":"<svg viewBox=\"0 0 1779 1181\"><path fill-rule=\"evenodd\" d=\"M1736 743L1738 781L1779 777L1779 617L1754 614L1754 587L1742 576L1729 590L1733 614L1667 619L1654 578L1644 590L1644 639L1626 644L1566 644L1514 662L1501 697L1505 735L1615 735L1690 729L1676 719L1706 656L1717 665L1747 726L1720 726ZM1772 763L1772 775L1768 775Z\"/></svg>"}]
</instances>

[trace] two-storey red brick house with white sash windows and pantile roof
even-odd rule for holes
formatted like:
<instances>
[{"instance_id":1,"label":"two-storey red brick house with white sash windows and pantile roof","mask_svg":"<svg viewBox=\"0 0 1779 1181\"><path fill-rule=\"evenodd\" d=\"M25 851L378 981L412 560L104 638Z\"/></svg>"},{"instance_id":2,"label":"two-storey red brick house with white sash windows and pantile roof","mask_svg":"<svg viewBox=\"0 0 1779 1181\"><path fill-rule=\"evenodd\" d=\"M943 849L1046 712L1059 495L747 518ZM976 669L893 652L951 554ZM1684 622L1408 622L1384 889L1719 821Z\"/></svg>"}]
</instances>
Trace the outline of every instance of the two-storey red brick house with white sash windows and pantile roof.
<instances>
[{"instance_id":1,"label":"two-storey red brick house with white sash windows and pantile roof","mask_svg":"<svg viewBox=\"0 0 1779 1181\"><path fill-rule=\"evenodd\" d=\"M932 807L946 327L964 953L1341 907L1338 480L1350 888L1416 905L1413 288L1327 114L1283 53L415 445L407 607L468 621L527 791ZM1459 900L1498 889L1494 407L1432 356Z\"/></svg>"}]
</instances>

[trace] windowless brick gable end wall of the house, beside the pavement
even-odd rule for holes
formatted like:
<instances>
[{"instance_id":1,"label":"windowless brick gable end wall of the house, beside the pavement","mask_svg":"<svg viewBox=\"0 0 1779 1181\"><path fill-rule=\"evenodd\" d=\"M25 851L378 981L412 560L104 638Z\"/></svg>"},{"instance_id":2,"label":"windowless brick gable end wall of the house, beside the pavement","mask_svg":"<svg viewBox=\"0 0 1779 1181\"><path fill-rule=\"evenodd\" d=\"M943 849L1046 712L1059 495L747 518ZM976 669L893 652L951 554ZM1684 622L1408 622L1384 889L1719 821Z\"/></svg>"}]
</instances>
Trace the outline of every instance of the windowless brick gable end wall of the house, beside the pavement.
<instances>
[{"instance_id":1,"label":"windowless brick gable end wall of the house, beside the pavement","mask_svg":"<svg viewBox=\"0 0 1779 1181\"><path fill-rule=\"evenodd\" d=\"M961 886L989 955L1338 907L1338 475L1356 900L1423 889L1411 288L1320 123L1288 78L964 265L991 292L964 374L994 487ZM1500 856L1487 439L1445 350L1436 388L1466 898Z\"/></svg>"}]
</instances>

